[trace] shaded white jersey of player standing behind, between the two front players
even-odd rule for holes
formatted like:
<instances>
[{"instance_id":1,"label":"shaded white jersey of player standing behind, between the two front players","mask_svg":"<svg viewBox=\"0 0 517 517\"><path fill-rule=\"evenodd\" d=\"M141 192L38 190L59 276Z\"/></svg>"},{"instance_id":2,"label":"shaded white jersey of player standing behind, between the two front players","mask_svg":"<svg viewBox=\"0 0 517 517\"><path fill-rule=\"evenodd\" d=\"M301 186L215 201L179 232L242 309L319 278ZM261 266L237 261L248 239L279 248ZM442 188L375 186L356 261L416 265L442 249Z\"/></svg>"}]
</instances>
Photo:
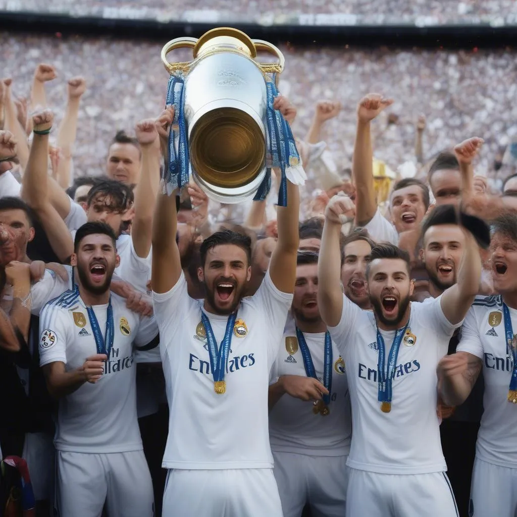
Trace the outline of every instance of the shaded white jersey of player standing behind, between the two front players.
<instances>
[{"instance_id":1,"label":"shaded white jersey of player standing behind, between the two front players","mask_svg":"<svg viewBox=\"0 0 517 517\"><path fill-rule=\"evenodd\" d=\"M323 384L325 332L303 333L316 376ZM296 339L296 327L288 318L271 377L307 375ZM352 421L345 362L332 343L332 390L330 413L314 415L311 402L284 394L269 413L269 442L275 452L311 456L342 456L350 451Z\"/></svg>"}]
</instances>

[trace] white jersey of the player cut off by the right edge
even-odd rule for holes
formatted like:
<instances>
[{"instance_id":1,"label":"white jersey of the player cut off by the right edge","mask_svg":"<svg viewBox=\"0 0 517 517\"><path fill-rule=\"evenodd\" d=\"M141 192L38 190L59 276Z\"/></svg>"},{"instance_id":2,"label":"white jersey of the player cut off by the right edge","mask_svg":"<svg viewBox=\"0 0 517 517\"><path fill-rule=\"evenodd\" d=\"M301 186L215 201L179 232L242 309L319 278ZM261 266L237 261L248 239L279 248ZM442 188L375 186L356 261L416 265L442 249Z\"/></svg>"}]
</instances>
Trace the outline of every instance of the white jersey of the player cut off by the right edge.
<instances>
[{"instance_id":1,"label":"white jersey of the player cut off by the right edge","mask_svg":"<svg viewBox=\"0 0 517 517\"><path fill-rule=\"evenodd\" d=\"M509 308L517 333L517 311ZM484 412L476 442L476 457L501 467L517 466L517 406L507 401L513 358L505 337L503 300L478 296L461 329L457 352L468 352L483 361Z\"/></svg>"}]
</instances>

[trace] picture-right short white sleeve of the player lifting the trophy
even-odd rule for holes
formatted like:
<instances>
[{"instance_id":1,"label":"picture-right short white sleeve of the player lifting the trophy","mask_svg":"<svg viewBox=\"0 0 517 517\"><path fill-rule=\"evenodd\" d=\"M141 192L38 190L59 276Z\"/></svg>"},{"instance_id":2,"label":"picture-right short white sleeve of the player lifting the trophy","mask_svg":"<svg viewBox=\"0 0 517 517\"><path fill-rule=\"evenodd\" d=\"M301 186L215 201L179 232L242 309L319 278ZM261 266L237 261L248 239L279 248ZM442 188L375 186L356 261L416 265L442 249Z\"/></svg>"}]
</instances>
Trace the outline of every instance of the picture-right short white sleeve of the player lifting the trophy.
<instances>
[{"instance_id":1,"label":"picture-right short white sleeve of the player lifting the trophy","mask_svg":"<svg viewBox=\"0 0 517 517\"><path fill-rule=\"evenodd\" d=\"M279 291L269 275L269 269L262 280L252 300L264 311L270 338L268 344L269 364L272 366L280 348L281 337L284 332L287 313L293 303L292 293Z\"/></svg>"}]
</instances>

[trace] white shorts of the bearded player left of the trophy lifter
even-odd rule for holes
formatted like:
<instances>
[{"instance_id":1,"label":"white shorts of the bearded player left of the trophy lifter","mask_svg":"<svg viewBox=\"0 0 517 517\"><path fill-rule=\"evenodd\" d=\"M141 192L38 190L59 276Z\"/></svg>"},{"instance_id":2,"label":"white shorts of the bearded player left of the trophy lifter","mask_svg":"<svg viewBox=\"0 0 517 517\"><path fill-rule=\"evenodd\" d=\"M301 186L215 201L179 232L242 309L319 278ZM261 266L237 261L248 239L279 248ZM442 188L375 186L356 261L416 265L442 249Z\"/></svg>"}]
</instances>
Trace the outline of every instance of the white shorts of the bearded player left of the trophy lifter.
<instances>
[{"instance_id":1,"label":"white shorts of the bearded player left of the trophy lifter","mask_svg":"<svg viewBox=\"0 0 517 517\"><path fill-rule=\"evenodd\" d=\"M153 483L144 451L85 454L57 451L60 517L154 517Z\"/></svg>"}]
</instances>

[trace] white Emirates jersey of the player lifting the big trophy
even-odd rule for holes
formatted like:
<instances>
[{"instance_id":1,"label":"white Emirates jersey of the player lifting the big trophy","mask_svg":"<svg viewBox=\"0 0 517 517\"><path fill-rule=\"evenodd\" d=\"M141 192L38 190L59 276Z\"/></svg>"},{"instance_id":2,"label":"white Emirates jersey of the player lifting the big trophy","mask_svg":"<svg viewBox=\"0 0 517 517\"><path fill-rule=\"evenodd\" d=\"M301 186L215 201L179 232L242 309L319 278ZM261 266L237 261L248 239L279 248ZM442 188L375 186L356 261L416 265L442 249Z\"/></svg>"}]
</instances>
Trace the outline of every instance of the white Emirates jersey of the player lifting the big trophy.
<instances>
[{"instance_id":1,"label":"white Emirates jersey of the player lifting the big trophy","mask_svg":"<svg viewBox=\"0 0 517 517\"><path fill-rule=\"evenodd\" d=\"M241 300L226 392L219 395L201 323L203 300L190 298L183 272L168 293L153 293L170 410L164 468L273 467L267 388L292 300L278 291L269 271L255 295ZM219 346L228 316L205 314Z\"/></svg>"}]
</instances>

